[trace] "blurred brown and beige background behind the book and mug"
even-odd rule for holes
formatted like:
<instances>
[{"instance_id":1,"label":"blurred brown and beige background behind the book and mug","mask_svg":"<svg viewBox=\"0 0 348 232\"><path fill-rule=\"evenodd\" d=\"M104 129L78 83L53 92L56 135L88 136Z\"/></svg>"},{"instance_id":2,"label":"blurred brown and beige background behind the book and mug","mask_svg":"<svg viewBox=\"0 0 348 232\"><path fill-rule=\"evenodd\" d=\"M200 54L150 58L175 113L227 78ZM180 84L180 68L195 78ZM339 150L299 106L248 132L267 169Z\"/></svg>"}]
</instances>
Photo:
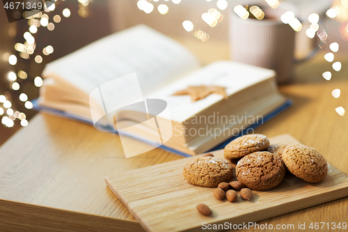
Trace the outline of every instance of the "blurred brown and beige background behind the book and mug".
<instances>
[{"instance_id":1,"label":"blurred brown and beige background behind the book and mug","mask_svg":"<svg viewBox=\"0 0 348 232\"><path fill-rule=\"evenodd\" d=\"M145 0L142 0L145 1ZM274 0L276 1L276 0ZM42 85L40 77L45 64L70 54L99 38L127 29L136 24L147 24L181 42L196 54L203 65L212 57L229 59L228 15L237 4L250 1L230 0L157 0L148 1L152 11L139 9L138 0L70 0L54 1L54 8L43 11L40 17L8 23L5 11L0 14L0 144L19 128L30 123L37 112L31 100L38 98ZM257 2L257 1L253 1ZM264 1L262 1L264 2ZM271 3L267 0L267 3ZM340 43L340 53L348 52L348 0L292 0L299 8L303 29L296 33L295 55L304 56L319 43L310 38L308 15L317 13L330 41ZM0 3L1 5L2 3ZM220 6L219 6L220 4ZM280 2L281 4L281 2ZM166 5L158 8L159 5ZM140 7L141 8L141 7ZM210 27L202 20L209 8L218 8L222 22ZM184 20L209 35L209 40L198 40L182 26ZM29 43L29 40L35 42ZM139 38L141 40L141 38ZM205 44L216 44L216 53L205 52ZM323 49L327 49L323 48ZM5 119L3 119L5 118ZM10 120L10 121L8 121Z\"/></svg>"}]
</instances>

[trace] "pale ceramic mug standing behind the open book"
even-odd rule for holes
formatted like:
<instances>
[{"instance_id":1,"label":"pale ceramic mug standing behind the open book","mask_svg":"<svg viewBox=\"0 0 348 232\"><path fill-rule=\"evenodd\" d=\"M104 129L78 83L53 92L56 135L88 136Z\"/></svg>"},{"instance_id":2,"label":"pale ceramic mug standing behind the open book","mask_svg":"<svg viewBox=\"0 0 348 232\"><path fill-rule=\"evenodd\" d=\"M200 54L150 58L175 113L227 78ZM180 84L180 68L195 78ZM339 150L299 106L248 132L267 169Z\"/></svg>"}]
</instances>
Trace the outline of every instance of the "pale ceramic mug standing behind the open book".
<instances>
[{"instance_id":1,"label":"pale ceramic mug standing behind the open book","mask_svg":"<svg viewBox=\"0 0 348 232\"><path fill-rule=\"evenodd\" d=\"M295 31L280 21L287 11L298 13L291 3L281 1L273 9L267 3L248 3L264 11L264 19L242 20L232 9L229 21L230 55L232 61L270 68L277 72L277 82L290 80L294 63Z\"/></svg>"}]
</instances>

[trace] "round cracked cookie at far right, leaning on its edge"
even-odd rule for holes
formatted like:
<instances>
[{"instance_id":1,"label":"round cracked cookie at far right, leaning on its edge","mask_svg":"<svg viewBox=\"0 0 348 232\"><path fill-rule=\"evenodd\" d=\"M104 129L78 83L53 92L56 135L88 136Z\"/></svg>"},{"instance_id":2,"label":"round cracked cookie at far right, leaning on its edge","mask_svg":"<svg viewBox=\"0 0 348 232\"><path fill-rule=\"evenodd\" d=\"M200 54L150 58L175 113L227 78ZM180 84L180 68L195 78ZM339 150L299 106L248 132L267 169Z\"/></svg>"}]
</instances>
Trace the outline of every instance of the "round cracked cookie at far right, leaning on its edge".
<instances>
[{"instance_id":1,"label":"round cracked cookie at far right, leaning on its edge","mask_svg":"<svg viewBox=\"0 0 348 232\"><path fill-rule=\"evenodd\" d=\"M291 173L310 183L319 183L327 175L327 162L310 146L292 144L283 151L283 161Z\"/></svg>"}]
</instances>

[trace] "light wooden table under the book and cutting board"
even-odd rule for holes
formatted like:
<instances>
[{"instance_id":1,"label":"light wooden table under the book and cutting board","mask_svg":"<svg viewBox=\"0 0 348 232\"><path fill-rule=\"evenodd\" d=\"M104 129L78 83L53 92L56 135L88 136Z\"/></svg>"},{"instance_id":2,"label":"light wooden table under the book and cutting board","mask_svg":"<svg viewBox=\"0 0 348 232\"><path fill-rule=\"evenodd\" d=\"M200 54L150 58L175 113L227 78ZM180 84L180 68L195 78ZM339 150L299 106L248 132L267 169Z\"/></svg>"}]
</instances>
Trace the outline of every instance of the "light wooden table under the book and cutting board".
<instances>
[{"instance_id":1,"label":"light wooden table under the book and cutting board","mask_svg":"<svg viewBox=\"0 0 348 232\"><path fill-rule=\"evenodd\" d=\"M209 57L203 55L208 48L187 46L202 57L203 63L228 59L226 43L212 42ZM348 57L336 55L342 70L333 71L333 79L328 82L322 72L332 68L323 55L319 53L294 68L294 83L280 86L280 92L292 98L294 105L255 132L268 137L292 134L348 175L347 115L335 112L338 106L348 109ZM334 88L341 90L338 99L331 96ZM141 142L134 141L134 149L141 146ZM126 159L117 135L38 114L0 148L0 225L5 231L142 231L106 187L104 176L181 158L156 148ZM347 216L348 197L258 224L342 224Z\"/></svg>"}]
</instances>

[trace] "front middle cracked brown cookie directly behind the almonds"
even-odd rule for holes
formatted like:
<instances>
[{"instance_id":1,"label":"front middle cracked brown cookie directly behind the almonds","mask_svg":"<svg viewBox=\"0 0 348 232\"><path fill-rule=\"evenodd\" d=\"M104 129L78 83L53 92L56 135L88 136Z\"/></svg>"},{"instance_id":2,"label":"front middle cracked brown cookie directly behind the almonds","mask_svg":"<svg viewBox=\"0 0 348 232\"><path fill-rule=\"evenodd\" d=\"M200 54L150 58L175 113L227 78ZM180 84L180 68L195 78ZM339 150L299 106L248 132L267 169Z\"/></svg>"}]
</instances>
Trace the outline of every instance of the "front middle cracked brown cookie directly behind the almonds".
<instances>
[{"instance_id":1,"label":"front middle cracked brown cookie directly behind the almonds","mask_svg":"<svg viewBox=\"0 0 348 232\"><path fill-rule=\"evenodd\" d=\"M283 180L285 166L278 155L259 151L239 160L236 176L251 190L269 190Z\"/></svg>"}]
</instances>

